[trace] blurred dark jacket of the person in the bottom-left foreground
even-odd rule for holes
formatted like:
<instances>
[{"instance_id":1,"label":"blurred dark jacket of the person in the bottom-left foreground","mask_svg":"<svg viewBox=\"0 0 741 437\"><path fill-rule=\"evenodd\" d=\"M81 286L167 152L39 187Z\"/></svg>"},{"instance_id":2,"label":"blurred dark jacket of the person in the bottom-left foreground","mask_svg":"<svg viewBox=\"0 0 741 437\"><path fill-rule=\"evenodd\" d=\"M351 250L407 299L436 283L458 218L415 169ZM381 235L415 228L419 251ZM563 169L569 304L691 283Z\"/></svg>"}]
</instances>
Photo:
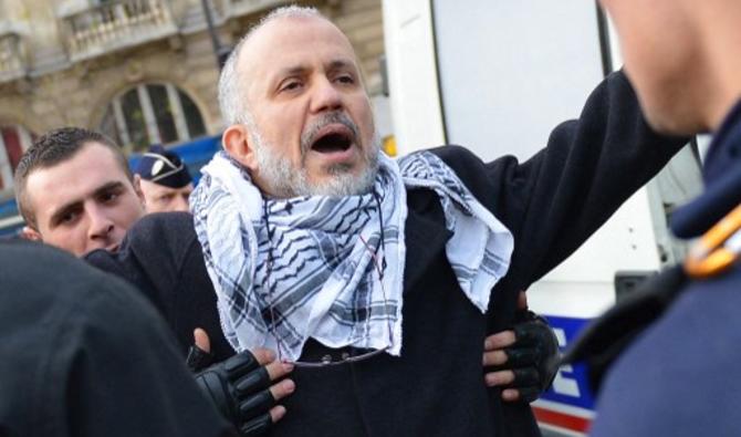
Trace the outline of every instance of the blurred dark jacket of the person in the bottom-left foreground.
<instances>
[{"instance_id":1,"label":"blurred dark jacket of the person in the bottom-left foreground","mask_svg":"<svg viewBox=\"0 0 741 437\"><path fill-rule=\"evenodd\" d=\"M0 241L0 436L232 436L131 285Z\"/></svg>"}]
</instances>

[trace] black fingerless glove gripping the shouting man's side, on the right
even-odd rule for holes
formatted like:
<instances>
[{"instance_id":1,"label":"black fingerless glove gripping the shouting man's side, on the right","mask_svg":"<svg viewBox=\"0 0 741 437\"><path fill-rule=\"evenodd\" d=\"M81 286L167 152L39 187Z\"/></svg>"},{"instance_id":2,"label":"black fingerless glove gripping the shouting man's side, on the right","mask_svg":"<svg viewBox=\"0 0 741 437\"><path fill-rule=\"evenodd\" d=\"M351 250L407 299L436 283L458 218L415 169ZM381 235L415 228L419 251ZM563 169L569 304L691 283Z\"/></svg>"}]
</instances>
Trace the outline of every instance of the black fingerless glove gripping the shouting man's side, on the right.
<instances>
[{"instance_id":1,"label":"black fingerless glove gripping the shouting man's side, on the right","mask_svg":"<svg viewBox=\"0 0 741 437\"><path fill-rule=\"evenodd\" d=\"M509 385L520 392L520 400L531 403L547 389L557 372L559 341L545 319L532 311L519 311L514 325L515 342L503 351L514 381Z\"/></svg>"}]
</instances>

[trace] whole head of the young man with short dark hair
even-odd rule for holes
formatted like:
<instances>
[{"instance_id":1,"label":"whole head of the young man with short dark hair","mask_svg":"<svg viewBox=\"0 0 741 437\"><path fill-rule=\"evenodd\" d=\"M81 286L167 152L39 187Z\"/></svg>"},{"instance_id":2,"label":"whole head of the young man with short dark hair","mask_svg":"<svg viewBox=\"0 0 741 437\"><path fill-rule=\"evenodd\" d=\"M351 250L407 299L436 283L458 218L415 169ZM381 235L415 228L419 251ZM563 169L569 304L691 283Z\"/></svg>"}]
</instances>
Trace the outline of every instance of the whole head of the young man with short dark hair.
<instances>
[{"instance_id":1,"label":"whole head of the young man with short dark hair","mask_svg":"<svg viewBox=\"0 0 741 437\"><path fill-rule=\"evenodd\" d=\"M80 127L36 139L15 169L15 199L31 240L80 257L116 250L144 215L138 176L108 137Z\"/></svg>"}]
</instances>

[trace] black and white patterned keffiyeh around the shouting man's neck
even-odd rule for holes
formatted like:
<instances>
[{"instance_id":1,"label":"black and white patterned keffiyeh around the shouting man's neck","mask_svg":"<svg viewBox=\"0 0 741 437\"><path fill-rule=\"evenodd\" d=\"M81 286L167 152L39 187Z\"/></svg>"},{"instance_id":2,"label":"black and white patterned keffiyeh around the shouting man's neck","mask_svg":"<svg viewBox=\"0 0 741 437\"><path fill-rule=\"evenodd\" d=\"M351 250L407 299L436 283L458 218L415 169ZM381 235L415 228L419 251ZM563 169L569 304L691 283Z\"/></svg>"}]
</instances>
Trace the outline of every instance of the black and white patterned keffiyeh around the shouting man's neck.
<instances>
[{"instance_id":1,"label":"black and white patterned keffiyeh around the shouting man's neck","mask_svg":"<svg viewBox=\"0 0 741 437\"><path fill-rule=\"evenodd\" d=\"M512 233L428 152L398 163L382 153L373 191L359 196L264 198L225 152L202 173L191 210L223 333L238 352L280 346L295 361L313 337L399 355L408 187L440 197L453 231L448 260L481 312L509 268Z\"/></svg>"}]
</instances>

